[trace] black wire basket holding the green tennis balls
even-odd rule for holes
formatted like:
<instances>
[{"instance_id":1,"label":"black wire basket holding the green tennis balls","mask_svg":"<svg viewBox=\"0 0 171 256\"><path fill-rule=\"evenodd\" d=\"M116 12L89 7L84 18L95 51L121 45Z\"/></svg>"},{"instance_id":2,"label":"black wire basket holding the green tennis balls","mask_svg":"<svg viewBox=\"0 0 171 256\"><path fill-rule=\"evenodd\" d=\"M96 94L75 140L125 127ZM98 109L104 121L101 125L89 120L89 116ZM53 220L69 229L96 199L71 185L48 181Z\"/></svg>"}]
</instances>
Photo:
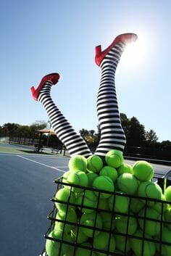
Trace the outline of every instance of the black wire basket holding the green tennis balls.
<instances>
[{"instance_id":1,"label":"black wire basket holding the green tennis balls","mask_svg":"<svg viewBox=\"0 0 171 256\"><path fill-rule=\"evenodd\" d=\"M164 191L164 189L170 185L169 176L170 172L165 176L156 174L154 176L154 182L159 183ZM167 240L164 239L164 234L167 234L166 231L170 231L171 234L171 220L164 219L164 210L168 208L168 205L171 207L171 202L71 185L65 183L62 177L55 180L54 183L57 184L57 191L66 187L70 190L70 196L74 189L80 189L82 194L81 200L74 203L71 202L70 196L67 202L57 200L55 195L51 199L51 201L54 202L54 209L48 216L50 225L48 231L46 231L45 238L46 241L56 242L57 252L55 256L84 256L83 252L86 252L85 255L88 256L133 256L136 254L133 252L132 247L137 247L138 256L171 255L171 237ZM95 207L84 203L86 191L93 191L93 193L96 194ZM101 194L103 193L108 194L107 197L112 199L112 207L104 207L101 205ZM128 209L125 212L115 207L117 200L124 202L123 198L128 202ZM138 202L143 203L143 215L139 215L139 213L136 212ZM62 204L65 207L66 215L63 219L58 218L59 210L56 207L57 204ZM148 213L148 207L151 205L157 205L158 209L160 209L157 218L154 218ZM124 205L122 206L124 207ZM70 208L73 208L76 212L77 220L75 222L70 221ZM93 225L91 223L89 226L88 223L82 221L83 212L89 212L90 214L93 212ZM102 220L102 225L99 224L99 215L106 216L106 218ZM51 232L54 231L57 225L62 226L62 234L59 239L51 236ZM116 228L116 226L119 228ZM122 228L120 228L121 226ZM153 235L146 234L148 228L151 232L154 230ZM155 231L156 229L157 231ZM66 233L68 236L66 236ZM80 234L83 233L84 235L89 234L84 238L86 239L85 241L84 239L80 239ZM69 238L71 234L72 239ZM102 246L104 241L106 244ZM97 244L99 244L99 246L97 246ZM130 244L132 244L132 246L130 246ZM44 249L41 256L49 255Z\"/></svg>"}]
</instances>

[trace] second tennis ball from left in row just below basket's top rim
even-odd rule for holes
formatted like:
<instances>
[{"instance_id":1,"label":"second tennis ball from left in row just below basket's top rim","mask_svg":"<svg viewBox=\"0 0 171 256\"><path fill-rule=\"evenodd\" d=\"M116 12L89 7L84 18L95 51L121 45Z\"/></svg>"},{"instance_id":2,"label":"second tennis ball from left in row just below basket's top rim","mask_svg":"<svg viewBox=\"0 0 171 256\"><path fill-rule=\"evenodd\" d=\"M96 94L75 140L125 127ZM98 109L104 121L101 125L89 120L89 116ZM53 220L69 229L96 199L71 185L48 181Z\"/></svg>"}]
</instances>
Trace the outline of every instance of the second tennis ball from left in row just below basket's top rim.
<instances>
[{"instance_id":1,"label":"second tennis ball from left in row just below basket's top rim","mask_svg":"<svg viewBox=\"0 0 171 256\"><path fill-rule=\"evenodd\" d=\"M93 212L97 206L97 197L93 191L85 190L77 195L76 204L80 205L78 208L81 212Z\"/></svg>"}]
</instances>

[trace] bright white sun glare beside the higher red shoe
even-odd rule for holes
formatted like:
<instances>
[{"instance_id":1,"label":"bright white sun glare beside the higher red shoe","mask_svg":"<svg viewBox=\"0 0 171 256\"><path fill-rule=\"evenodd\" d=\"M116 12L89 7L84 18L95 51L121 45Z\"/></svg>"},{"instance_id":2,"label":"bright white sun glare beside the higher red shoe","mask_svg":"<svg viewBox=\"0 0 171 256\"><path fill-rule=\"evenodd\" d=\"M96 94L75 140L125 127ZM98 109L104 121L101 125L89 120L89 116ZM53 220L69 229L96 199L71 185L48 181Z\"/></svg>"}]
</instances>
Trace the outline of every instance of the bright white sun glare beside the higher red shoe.
<instances>
[{"instance_id":1,"label":"bright white sun glare beside the higher red shoe","mask_svg":"<svg viewBox=\"0 0 171 256\"><path fill-rule=\"evenodd\" d=\"M128 44L125 51L122 54L120 63L122 66L132 67L139 66L146 59L147 47L146 40L143 36L138 35L137 41L134 43Z\"/></svg>"}]
</instances>

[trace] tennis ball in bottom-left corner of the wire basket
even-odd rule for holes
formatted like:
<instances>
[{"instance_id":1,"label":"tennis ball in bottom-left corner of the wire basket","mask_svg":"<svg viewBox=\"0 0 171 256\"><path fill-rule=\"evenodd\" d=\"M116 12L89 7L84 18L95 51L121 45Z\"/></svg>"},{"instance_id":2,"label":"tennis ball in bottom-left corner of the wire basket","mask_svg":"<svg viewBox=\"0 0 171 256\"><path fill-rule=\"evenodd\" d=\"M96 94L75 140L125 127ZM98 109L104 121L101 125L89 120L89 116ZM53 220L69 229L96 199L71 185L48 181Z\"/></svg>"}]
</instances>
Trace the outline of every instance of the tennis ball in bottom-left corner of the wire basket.
<instances>
[{"instance_id":1,"label":"tennis ball in bottom-left corner of the wire basket","mask_svg":"<svg viewBox=\"0 0 171 256\"><path fill-rule=\"evenodd\" d=\"M62 229L54 229L49 233L51 239L59 239L60 241L55 241L51 239L46 239L46 252L49 256L64 255L67 252L67 244L62 243L62 241L67 241L67 236L64 234Z\"/></svg>"}]
</instances>

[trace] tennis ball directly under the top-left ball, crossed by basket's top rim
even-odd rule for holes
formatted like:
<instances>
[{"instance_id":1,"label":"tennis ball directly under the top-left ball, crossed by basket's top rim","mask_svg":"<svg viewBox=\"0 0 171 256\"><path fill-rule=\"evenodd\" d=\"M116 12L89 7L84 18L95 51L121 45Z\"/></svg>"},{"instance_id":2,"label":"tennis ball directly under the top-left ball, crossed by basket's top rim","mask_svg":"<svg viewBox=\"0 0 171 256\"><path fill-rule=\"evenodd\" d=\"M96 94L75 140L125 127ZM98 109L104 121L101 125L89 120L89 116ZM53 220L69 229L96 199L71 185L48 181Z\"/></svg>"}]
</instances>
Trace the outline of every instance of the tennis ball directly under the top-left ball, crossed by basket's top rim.
<instances>
[{"instance_id":1,"label":"tennis ball directly under the top-left ball, crossed by basket's top rim","mask_svg":"<svg viewBox=\"0 0 171 256\"><path fill-rule=\"evenodd\" d=\"M67 177L67 182L72 185L88 186L88 177L87 177L86 173L84 173L81 170L78 170L75 172L71 172L69 174L69 176ZM72 186L72 190L78 193L78 192L82 191L83 189Z\"/></svg>"}]
</instances>

